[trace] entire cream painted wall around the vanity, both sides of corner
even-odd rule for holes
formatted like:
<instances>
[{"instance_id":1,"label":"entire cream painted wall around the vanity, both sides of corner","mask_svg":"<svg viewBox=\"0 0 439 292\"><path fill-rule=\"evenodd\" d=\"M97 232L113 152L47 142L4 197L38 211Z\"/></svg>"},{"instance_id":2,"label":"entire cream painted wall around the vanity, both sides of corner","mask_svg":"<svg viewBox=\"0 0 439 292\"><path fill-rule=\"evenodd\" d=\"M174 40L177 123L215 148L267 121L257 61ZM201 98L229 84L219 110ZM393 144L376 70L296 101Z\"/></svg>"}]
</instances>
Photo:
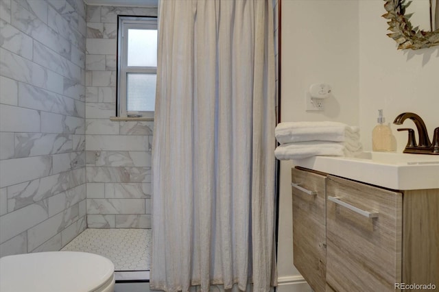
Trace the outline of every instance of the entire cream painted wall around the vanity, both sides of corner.
<instances>
[{"instance_id":1,"label":"entire cream painted wall around the vanity, both sides of corner","mask_svg":"<svg viewBox=\"0 0 439 292\"><path fill-rule=\"evenodd\" d=\"M281 2L282 121L341 121L361 128L361 143L371 149L377 110L387 123L401 112L423 117L430 138L439 127L439 47L398 51L381 17L384 1ZM304 95L315 82L333 87L325 112L305 112ZM398 151L407 133L396 132ZM399 126L401 127L401 126ZM405 121L404 127L414 127ZM278 291L305 291L292 264L291 168L281 162Z\"/></svg>"}]
</instances>

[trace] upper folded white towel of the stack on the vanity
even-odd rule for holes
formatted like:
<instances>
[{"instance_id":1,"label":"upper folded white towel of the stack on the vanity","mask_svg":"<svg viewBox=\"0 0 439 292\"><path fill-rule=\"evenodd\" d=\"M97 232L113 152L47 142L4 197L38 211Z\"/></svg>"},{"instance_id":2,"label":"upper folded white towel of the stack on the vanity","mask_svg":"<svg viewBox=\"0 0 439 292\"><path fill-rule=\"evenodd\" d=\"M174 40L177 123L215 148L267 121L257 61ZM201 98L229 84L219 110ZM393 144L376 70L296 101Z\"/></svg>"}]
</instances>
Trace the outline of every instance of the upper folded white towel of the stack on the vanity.
<instances>
[{"instance_id":1,"label":"upper folded white towel of the stack on the vanity","mask_svg":"<svg viewBox=\"0 0 439 292\"><path fill-rule=\"evenodd\" d=\"M359 140L359 127L331 121L283 122L276 126L275 135L281 144L304 141L356 141Z\"/></svg>"}]
</instances>

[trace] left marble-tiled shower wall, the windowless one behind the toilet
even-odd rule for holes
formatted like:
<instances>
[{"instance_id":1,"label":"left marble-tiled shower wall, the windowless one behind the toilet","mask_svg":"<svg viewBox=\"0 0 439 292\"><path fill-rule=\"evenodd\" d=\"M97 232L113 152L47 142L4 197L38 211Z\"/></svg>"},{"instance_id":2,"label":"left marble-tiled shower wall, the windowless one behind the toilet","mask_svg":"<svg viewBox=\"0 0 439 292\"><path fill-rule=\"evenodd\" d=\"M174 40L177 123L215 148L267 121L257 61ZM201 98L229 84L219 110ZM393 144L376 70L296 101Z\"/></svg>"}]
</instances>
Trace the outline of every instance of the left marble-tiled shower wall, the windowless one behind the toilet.
<instances>
[{"instance_id":1,"label":"left marble-tiled shower wall, the windowless one behind the toilet","mask_svg":"<svg viewBox=\"0 0 439 292\"><path fill-rule=\"evenodd\" d=\"M0 0L0 256L86 228L82 0Z\"/></svg>"}]
</instances>

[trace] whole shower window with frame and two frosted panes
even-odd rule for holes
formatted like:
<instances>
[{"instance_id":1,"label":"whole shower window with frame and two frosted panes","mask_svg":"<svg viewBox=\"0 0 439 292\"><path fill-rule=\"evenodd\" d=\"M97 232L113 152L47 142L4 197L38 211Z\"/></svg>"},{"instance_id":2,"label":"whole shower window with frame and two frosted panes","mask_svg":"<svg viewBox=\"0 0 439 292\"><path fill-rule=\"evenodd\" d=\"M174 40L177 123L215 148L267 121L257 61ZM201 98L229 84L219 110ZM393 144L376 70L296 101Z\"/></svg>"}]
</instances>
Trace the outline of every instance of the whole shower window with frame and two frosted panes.
<instances>
[{"instance_id":1,"label":"whole shower window with frame and two frosted panes","mask_svg":"<svg viewBox=\"0 0 439 292\"><path fill-rule=\"evenodd\" d=\"M157 19L119 16L117 42L117 115L154 117Z\"/></svg>"}]
</instances>

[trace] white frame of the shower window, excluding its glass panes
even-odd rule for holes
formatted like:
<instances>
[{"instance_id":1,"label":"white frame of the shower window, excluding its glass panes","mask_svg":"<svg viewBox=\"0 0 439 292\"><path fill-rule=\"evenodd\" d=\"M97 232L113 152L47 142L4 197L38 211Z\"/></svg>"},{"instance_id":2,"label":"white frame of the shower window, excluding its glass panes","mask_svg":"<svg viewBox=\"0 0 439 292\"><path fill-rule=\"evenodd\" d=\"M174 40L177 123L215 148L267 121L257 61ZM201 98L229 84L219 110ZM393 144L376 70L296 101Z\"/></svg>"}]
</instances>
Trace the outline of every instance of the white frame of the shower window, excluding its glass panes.
<instances>
[{"instance_id":1,"label":"white frame of the shower window, excluding its glass panes","mask_svg":"<svg viewBox=\"0 0 439 292\"><path fill-rule=\"evenodd\" d=\"M117 117L127 117L128 73L157 73L157 67L128 66L128 29L157 29L152 16L118 16L117 20ZM154 118L154 111L140 112L142 117Z\"/></svg>"}]
</instances>

